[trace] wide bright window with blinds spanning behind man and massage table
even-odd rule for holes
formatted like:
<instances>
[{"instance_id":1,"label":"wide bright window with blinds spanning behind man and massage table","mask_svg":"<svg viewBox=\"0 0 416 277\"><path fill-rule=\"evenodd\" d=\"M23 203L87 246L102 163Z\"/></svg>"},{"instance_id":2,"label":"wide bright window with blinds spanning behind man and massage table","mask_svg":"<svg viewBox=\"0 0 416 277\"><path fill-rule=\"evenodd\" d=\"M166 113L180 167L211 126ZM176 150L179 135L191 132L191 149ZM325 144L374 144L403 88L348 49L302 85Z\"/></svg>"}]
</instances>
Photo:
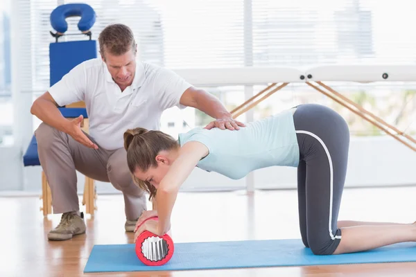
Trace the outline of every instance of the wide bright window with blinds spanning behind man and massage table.
<instances>
[{"instance_id":1,"label":"wide bright window with blinds spanning behind man and massage table","mask_svg":"<svg viewBox=\"0 0 416 277\"><path fill-rule=\"evenodd\" d=\"M31 44L26 47L30 54L24 57L32 66L22 72L26 91L42 92L49 87L48 47L53 42L49 35L52 30L49 15L58 4L73 2L77 1L33 0L30 8L22 8L26 14L21 20L26 18L24 26L30 26L31 37ZM391 3L372 0L87 0L84 3L91 5L98 15L92 28L94 39L107 24L128 24L139 44L139 58L169 68L307 68L316 64L414 64L416 61L416 35L412 24L408 24L416 6L411 0L395 1L394 9ZM67 21L68 33L78 32L78 18ZM416 116L413 84L401 87L336 85L339 91L349 93L356 100L365 99L364 105L380 116L396 114L396 117L388 116L390 123L397 121L406 128ZM376 91L380 88L388 96L379 97ZM260 89L261 86L254 87L254 93ZM241 86L210 87L207 91L223 100L227 109L244 102ZM397 100L392 101L394 98ZM291 84L254 108L254 118L263 118L301 101L324 102L343 110L317 91ZM404 107L403 103L408 106ZM345 116L350 116L347 112ZM191 127L212 120L200 111L176 114L183 116ZM175 122L175 128L185 128L177 118ZM356 134L379 134L356 116L349 122ZM166 125L167 121L162 123ZM409 128L415 130L415 127Z\"/></svg>"}]
</instances>

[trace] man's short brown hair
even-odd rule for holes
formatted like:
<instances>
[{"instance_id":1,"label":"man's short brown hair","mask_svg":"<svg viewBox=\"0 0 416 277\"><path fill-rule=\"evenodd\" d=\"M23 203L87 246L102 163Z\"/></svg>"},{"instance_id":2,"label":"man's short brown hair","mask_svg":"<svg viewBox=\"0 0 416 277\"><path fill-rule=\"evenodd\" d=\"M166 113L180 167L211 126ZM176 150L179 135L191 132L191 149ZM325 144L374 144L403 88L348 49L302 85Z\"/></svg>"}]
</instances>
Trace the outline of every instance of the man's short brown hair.
<instances>
[{"instance_id":1,"label":"man's short brown hair","mask_svg":"<svg viewBox=\"0 0 416 277\"><path fill-rule=\"evenodd\" d=\"M124 24L111 24L105 27L98 36L98 43L103 56L105 51L112 55L123 55L130 49L136 50L135 36Z\"/></svg>"}]
</instances>

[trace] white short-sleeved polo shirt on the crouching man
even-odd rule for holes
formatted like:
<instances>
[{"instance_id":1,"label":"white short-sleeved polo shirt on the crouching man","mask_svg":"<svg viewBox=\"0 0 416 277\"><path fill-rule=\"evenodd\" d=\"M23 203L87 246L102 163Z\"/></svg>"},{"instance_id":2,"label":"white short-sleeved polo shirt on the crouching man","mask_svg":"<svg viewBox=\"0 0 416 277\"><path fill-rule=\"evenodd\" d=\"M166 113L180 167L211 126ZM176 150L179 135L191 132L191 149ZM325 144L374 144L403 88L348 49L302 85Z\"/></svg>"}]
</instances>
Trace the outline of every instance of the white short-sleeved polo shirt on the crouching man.
<instances>
[{"instance_id":1,"label":"white short-sleeved polo shirt on the crouching man","mask_svg":"<svg viewBox=\"0 0 416 277\"><path fill-rule=\"evenodd\" d=\"M74 67L49 89L60 106L85 101L89 134L98 147L123 148L123 133L135 127L159 129L162 112L179 107L180 97L191 87L169 69L137 62L135 78L123 92L112 80L101 57Z\"/></svg>"}]
</instances>

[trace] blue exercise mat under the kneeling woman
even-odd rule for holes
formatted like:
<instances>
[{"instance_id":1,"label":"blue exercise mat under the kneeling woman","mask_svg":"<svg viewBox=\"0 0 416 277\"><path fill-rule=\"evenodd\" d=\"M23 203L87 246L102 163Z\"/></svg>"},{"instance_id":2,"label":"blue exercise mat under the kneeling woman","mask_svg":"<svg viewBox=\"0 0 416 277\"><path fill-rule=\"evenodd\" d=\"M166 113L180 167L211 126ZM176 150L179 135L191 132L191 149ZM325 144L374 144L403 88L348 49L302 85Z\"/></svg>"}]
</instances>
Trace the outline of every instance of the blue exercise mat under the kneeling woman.
<instances>
[{"instance_id":1,"label":"blue exercise mat under the kneeling woman","mask_svg":"<svg viewBox=\"0 0 416 277\"><path fill-rule=\"evenodd\" d=\"M416 262L416 243L404 242L360 253L315 256L302 240L245 240L176 243L171 260L150 267L136 256L135 244L95 245L84 272L174 271Z\"/></svg>"}]
</instances>

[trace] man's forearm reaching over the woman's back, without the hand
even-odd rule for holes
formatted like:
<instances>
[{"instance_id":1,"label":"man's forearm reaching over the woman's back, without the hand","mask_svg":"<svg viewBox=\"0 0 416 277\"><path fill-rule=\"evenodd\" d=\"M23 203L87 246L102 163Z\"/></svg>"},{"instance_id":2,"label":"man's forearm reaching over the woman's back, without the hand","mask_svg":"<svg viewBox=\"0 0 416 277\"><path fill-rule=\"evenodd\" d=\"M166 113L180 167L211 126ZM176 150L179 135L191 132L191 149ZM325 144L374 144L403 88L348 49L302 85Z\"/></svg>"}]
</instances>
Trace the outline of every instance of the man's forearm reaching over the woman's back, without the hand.
<instances>
[{"instance_id":1,"label":"man's forearm reaching over the woman's back, without the hand","mask_svg":"<svg viewBox=\"0 0 416 277\"><path fill-rule=\"evenodd\" d=\"M198 91L196 108L212 118L232 118L232 115L225 109L225 106L218 98L203 90Z\"/></svg>"}]
</instances>

